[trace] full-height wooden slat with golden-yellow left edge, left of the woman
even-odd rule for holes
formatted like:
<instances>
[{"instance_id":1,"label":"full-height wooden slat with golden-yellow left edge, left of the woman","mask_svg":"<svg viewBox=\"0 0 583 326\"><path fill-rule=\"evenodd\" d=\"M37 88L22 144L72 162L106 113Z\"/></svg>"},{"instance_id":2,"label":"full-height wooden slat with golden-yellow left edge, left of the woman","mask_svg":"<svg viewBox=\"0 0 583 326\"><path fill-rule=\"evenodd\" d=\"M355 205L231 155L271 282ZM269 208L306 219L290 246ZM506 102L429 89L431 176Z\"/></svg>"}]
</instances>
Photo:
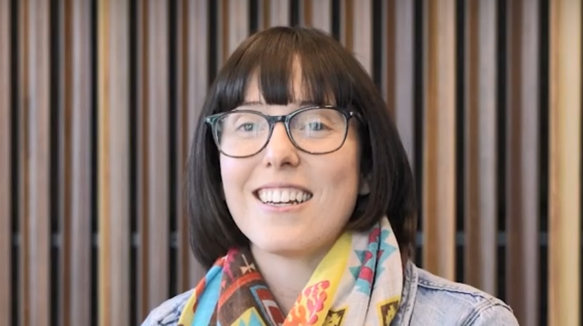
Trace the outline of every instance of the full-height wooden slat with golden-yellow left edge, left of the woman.
<instances>
[{"instance_id":1,"label":"full-height wooden slat with golden-yellow left edge, left of the woman","mask_svg":"<svg viewBox=\"0 0 583 326\"><path fill-rule=\"evenodd\" d=\"M99 325L129 323L128 1L98 3Z\"/></svg>"}]
</instances>

